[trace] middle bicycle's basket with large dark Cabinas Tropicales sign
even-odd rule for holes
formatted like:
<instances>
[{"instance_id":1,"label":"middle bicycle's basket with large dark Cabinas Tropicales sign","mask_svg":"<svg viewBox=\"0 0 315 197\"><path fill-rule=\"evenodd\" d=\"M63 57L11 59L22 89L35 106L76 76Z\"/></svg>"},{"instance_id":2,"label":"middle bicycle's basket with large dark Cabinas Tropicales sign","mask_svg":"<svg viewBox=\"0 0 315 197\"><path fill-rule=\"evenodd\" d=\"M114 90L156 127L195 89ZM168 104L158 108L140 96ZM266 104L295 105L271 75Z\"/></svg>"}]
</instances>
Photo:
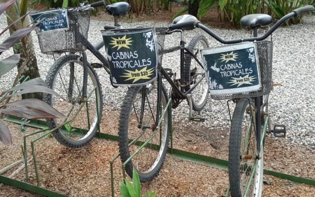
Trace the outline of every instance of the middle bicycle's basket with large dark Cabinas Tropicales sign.
<instances>
[{"instance_id":1,"label":"middle bicycle's basket with large dark Cabinas Tropicales sign","mask_svg":"<svg viewBox=\"0 0 315 197\"><path fill-rule=\"evenodd\" d=\"M111 81L115 86L142 86L157 76L166 28L103 30Z\"/></svg>"}]
</instances>

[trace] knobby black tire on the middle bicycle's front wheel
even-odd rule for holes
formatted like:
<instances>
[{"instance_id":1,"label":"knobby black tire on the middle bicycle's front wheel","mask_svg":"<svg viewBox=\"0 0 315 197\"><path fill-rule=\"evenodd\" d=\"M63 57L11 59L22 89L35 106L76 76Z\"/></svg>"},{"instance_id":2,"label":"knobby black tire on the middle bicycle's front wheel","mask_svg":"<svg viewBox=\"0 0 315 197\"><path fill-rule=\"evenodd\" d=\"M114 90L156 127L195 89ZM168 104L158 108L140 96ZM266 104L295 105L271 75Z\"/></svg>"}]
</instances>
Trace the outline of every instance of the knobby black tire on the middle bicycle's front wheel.
<instances>
[{"instance_id":1,"label":"knobby black tire on the middle bicycle's front wheel","mask_svg":"<svg viewBox=\"0 0 315 197\"><path fill-rule=\"evenodd\" d=\"M154 87L154 85L151 84L152 87ZM146 86L146 90L149 89L148 87L150 87L150 84ZM168 102L168 97L167 97L167 93L166 90L164 88L164 86L161 87L161 93L162 93L162 97L161 97L161 103L162 103L162 110L163 111L165 109L165 106ZM137 149L139 146L136 145L128 145L128 143L130 142L128 139L134 139L134 138L138 138L139 135L139 131L142 132L142 134L140 135L140 138L138 138L139 141L144 142L150 137L150 132L152 130L153 131L153 126L151 126L150 129L143 129L143 127L145 126L143 123L146 122L146 125L150 125L152 118L148 118L150 119L149 121L147 121L147 119L145 119L145 117L148 117L150 115L150 110L148 110L149 112L146 111L145 107L146 106L151 106L147 103L143 103L142 100L144 101L149 101L149 97L150 100L153 100L151 98L154 98L155 93L157 94L155 88L152 88L152 90L149 92L147 97L142 96L142 90L144 89L144 87L132 87L129 88L129 90L126 93L125 99L123 101L123 106L121 109L121 114L120 114L120 119L119 119L119 152L120 152L120 157L121 157L121 161L122 163L126 162L126 160L130 157L130 155L132 155L132 153L134 153L135 149ZM140 97L140 99L139 99ZM142 99L142 98L145 99ZM144 108L144 118L142 119L143 122L140 124L140 122L138 121L141 114L139 113L135 113L135 112L139 112L137 111L137 106L139 106L139 104L136 102L138 101L137 99L139 99L141 102L141 105L144 104L142 108ZM152 105L156 104L155 101L153 101L151 103ZM154 107L152 107L154 109ZM157 107L156 107L157 108ZM140 107L141 110L141 107ZM159 133L159 143L160 143L160 147L157 147L158 151L155 151L153 149L153 147L155 145L158 144L157 138L155 137L150 141L150 145L147 144L147 146L145 146L144 149L142 149L139 154L137 154L129 163L126 164L125 170L126 173L132 177L132 170L133 167L136 168L138 174L139 174L139 179L141 182L146 182L146 181L150 181L152 180L159 172L164 159L165 159L165 155L167 152L167 148L168 148L168 143L169 143L169 135L170 135L170 115L169 115L169 109L167 110L167 112L164 115L163 121L162 121L162 125L160 126L160 131L163 129L163 131L161 131L161 133ZM141 113L141 111L140 111ZM155 114L156 111L152 112L151 114ZM149 115L148 115L149 114ZM151 115L150 115L151 116ZM155 118L154 116L156 115L152 115L153 118ZM141 120L141 119L140 119ZM154 119L153 119L154 120ZM133 124L133 125L132 125ZM138 124L138 126L137 126ZM154 123L152 123L154 124ZM152 125L151 124L151 125ZM142 126L141 126L142 125ZM141 128L140 128L141 127ZM147 130L149 130L147 132ZM151 133L152 133L151 132ZM149 134L149 135L148 135ZM143 140L144 139L144 140ZM137 140L136 143L141 143ZM146 153L151 153L153 154L157 153L157 156L148 156L145 155ZM144 157L143 157L144 155ZM150 160L151 159L151 163L149 162L149 164L147 164L147 162L145 162L143 159L141 158L145 158L146 160ZM145 164L144 164L145 163Z\"/></svg>"}]
</instances>

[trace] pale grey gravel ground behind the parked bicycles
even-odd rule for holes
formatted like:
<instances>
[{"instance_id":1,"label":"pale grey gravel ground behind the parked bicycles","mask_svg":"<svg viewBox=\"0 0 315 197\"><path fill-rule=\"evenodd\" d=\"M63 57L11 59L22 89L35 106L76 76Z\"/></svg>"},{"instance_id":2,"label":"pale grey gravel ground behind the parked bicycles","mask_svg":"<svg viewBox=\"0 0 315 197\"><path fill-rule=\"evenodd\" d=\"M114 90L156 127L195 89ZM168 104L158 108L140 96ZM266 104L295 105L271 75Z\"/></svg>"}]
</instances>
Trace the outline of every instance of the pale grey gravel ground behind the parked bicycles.
<instances>
[{"instance_id":1,"label":"pale grey gravel ground behind the parked bicycles","mask_svg":"<svg viewBox=\"0 0 315 197\"><path fill-rule=\"evenodd\" d=\"M105 24L112 24L107 21L91 20L89 40L96 43L101 39L100 30ZM136 26L164 26L167 23L141 22L141 23L122 23L124 27ZM274 88L270 97L270 114L273 124L284 124L287 128L286 139L292 143L307 145L315 153L315 71L312 69L315 45L311 41L315 40L314 33L315 16L305 17L302 24L292 25L290 27L279 28L274 34L274 61L273 78L274 82L282 86ZM6 26L6 20L0 17L0 29ZM249 34L244 30L222 30L212 29L225 39L235 39L247 37ZM209 38L211 46L221 45L219 42L203 33L201 30L186 32L186 41L189 42L192 36L204 34ZM0 41L7 36L4 34ZM40 74L43 79L47 75L52 62L52 56L40 53L37 43L37 36L32 33L35 42L35 50ZM174 46L178 43L180 34L168 35L165 38L165 47ZM102 49L104 52L104 49ZM1 58L10 55L11 50L2 54ZM163 57L163 66L172 68L173 71L179 71L179 53L167 54ZM91 54L88 54L90 62L97 61ZM115 89L109 83L108 74L102 70L97 70L102 84L104 94L104 108L119 110L124 98L126 88ZM179 74L179 72L178 72ZM8 88L16 75L16 70L0 78L0 90ZM184 106L185 105L185 106ZM174 110L174 121L188 122L187 102ZM208 119L202 123L209 129L225 130L229 127L228 111L226 101L216 101L208 99L203 111L203 116ZM200 123L188 123L189 125L200 125Z\"/></svg>"}]
</instances>

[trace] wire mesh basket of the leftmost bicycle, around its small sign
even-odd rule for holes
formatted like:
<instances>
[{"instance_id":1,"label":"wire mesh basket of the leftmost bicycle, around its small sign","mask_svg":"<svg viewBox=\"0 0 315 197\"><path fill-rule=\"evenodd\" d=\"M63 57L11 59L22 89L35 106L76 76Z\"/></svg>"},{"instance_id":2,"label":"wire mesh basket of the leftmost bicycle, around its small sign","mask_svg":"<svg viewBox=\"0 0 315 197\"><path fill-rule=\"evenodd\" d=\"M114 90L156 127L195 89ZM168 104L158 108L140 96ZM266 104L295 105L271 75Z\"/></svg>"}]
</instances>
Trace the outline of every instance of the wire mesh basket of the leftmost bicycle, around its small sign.
<instances>
[{"instance_id":1,"label":"wire mesh basket of the leftmost bicycle, around its small sign","mask_svg":"<svg viewBox=\"0 0 315 197\"><path fill-rule=\"evenodd\" d=\"M58 10L50 9L49 12ZM32 13L34 14L34 13ZM91 11L80 8L67 9L68 29L47 32L37 31L42 53L80 52L86 50ZM85 39L86 38L86 39Z\"/></svg>"}]
</instances>

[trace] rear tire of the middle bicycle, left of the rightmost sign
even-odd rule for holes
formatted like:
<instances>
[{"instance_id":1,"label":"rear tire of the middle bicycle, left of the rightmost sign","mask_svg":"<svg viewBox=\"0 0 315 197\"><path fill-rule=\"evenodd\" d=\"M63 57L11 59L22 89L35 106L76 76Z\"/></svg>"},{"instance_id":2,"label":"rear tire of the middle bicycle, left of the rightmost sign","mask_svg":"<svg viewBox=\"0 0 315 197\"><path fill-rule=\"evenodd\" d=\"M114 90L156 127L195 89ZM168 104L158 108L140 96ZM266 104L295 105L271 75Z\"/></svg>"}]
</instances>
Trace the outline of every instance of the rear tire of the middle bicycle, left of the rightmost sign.
<instances>
[{"instance_id":1,"label":"rear tire of the middle bicycle, left of the rightmost sign","mask_svg":"<svg viewBox=\"0 0 315 197\"><path fill-rule=\"evenodd\" d=\"M209 47L209 43L207 41L207 38L203 35L197 35L197 36L194 36L190 40L187 48L189 51L191 51L193 53L196 52L197 53L196 57L198 58L199 62L202 63L201 51L200 50L196 51L196 47L199 43L201 43L203 45L203 48ZM195 67L192 68L192 66L195 66ZM205 106L207 99L208 99L208 95L209 95L209 84L207 82L206 69L205 69L205 67L202 68L192 58L192 56L189 53L185 53L184 80L186 82L188 82L188 86L187 86L186 90L189 90L190 85L193 85L197 80L198 75L197 76L191 75L192 73L197 72L195 70L200 71L200 72L205 74L204 79L199 83L199 85L196 87L196 89L194 89L191 93L192 109L194 111L201 111L202 108ZM198 90L198 87L200 88L199 90ZM199 99L197 99L198 98L197 94L199 94L200 91L201 91L201 98L199 100Z\"/></svg>"}]
</instances>

